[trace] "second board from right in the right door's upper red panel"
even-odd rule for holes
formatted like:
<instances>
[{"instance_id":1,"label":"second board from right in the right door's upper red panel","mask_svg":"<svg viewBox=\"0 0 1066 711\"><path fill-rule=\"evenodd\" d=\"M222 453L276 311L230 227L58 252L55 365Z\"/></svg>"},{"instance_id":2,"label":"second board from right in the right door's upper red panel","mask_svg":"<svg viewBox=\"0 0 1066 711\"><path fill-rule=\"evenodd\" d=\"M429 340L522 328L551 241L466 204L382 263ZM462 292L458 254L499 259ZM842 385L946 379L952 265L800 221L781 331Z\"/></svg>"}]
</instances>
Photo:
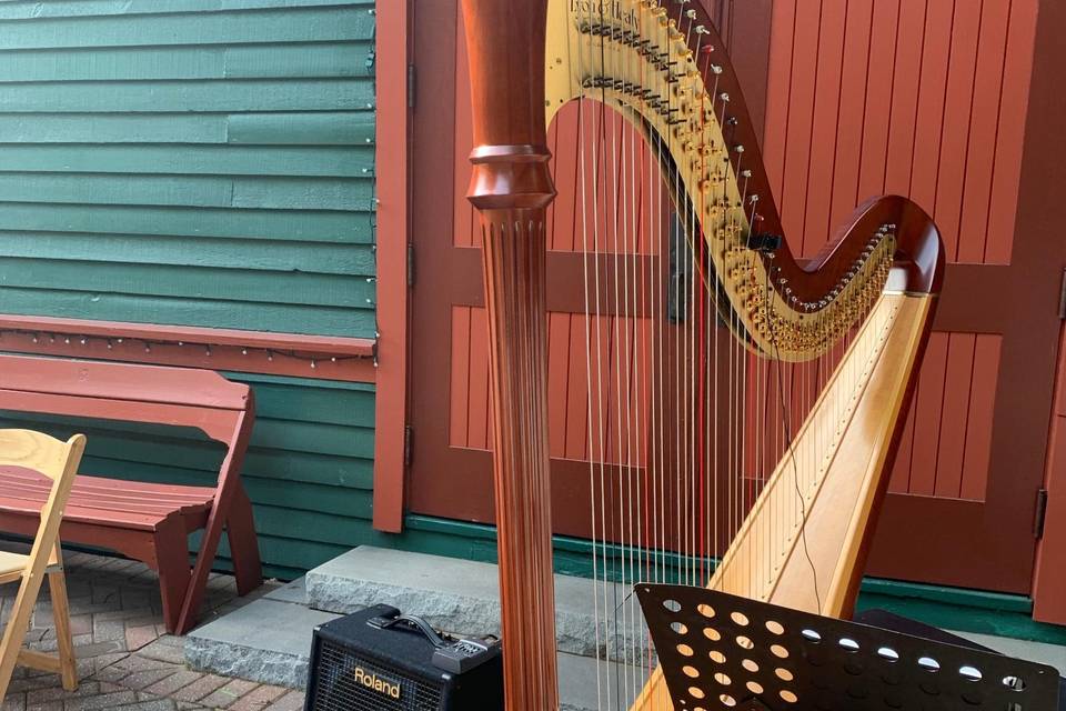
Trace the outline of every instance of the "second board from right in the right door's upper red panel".
<instances>
[{"instance_id":1,"label":"second board from right in the right door's upper red panel","mask_svg":"<svg viewBox=\"0 0 1066 711\"><path fill-rule=\"evenodd\" d=\"M984 261L1009 17L1009 0L984 0L955 259L958 262Z\"/></svg>"}]
</instances>

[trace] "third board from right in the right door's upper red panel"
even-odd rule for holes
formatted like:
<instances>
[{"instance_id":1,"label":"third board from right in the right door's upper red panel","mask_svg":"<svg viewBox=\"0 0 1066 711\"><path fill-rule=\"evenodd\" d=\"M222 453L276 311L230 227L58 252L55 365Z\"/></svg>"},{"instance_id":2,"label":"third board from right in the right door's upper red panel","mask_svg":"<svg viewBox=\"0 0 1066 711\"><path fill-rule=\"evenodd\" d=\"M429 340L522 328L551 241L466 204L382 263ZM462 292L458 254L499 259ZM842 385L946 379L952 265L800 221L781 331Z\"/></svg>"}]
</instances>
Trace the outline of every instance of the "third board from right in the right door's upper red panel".
<instances>
[{"instance_id":1,"label":"third board from right in the right door's upper red panel","mask_svg":"<svg viewBox=\"0 0 1066 711\"><path fill-rule=\"evenodd\" d=\"M977 42L985 0L975 8L956 2L952 20L952 48L948 61L947 90L944 99L944 127L941 131L941 161L936 177L936 223L945 239L947 259L958 261L959 213L963 181L967 170L971 117L977 62Z\"/></svg>"}]
</instances>

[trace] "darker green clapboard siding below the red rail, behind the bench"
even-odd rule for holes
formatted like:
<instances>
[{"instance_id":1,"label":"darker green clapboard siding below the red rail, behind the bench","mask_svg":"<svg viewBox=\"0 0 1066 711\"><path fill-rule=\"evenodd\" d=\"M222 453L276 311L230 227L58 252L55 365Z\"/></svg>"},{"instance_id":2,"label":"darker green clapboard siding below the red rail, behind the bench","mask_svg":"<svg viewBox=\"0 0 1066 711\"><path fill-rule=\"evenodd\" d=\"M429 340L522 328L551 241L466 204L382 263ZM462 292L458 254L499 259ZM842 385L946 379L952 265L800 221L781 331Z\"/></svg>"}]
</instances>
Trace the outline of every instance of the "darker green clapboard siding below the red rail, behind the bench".
<instances>
[{"instance_id":1,"label":"darker green clapboard siding below the red rail, behind the bench","mask_svg":"<svg viewBox=\"0 0 1066 711\"><path fill-rule=\"evenodd\" d=\"M266 571L294 578L381 537L371 530L372 385L227 373L255 391L242 480L255 507ZM0 411L0 427L89 438L86 475L213 485L222 445L192 429ZM198 544L195 537L191 545ZM220 568L228 567L223 545Z\"/></svg>"}]
</instances>

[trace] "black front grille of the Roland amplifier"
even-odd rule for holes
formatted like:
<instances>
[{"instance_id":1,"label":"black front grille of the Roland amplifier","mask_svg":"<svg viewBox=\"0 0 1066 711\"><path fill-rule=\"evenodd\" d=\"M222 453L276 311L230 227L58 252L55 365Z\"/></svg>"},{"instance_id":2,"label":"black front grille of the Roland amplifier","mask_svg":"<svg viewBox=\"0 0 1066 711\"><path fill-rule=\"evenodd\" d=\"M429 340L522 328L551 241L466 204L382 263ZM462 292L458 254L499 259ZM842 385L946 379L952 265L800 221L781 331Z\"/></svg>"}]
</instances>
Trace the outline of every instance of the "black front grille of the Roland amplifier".
<instances>
[{"instance_id":1,"label":"black front grille of the Roland amplifier","mask_svg":"<svg viewBox=\"0 0 1066 711\"><path fill-rule=\"evenodd\" d=\"M358 657L329 640L319 651L318 681L312 711L438 711L441 689L398 669ZM393 699L355 681L355 668L376 674L390 683L400 682L400 698Z\"/></svg>"}]
</instances>

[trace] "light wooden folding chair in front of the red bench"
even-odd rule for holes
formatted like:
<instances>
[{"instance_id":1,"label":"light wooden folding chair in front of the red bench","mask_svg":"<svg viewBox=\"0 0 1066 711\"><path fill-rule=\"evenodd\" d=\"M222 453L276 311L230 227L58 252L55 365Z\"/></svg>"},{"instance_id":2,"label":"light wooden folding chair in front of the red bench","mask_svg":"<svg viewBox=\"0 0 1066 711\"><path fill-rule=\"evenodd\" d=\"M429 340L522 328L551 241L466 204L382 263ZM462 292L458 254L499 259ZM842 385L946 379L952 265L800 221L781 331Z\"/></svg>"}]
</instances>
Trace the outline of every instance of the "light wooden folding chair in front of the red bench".
<instances>
[{"instance_id":1,"label":"light wooden folding chair in front of the red bench","mask_svg":"<svg viewBox=\"0 0 1066 711\"><path fill-rule=\"evenodd\" d=\"M3 630L3 640L0 641L0 702L8 691L16 664L56 672L62 677L63 689L73 691L78 688L67 580L59 550L59 525L84 450L83 434L61 442L30 430L0 430L0 467L32 470L52 480L51 493L41 509L41 524L29 555L0 551L0 583L21 581ZM52 594L58 655L22 648L46 574Z\"/></svg>"}]
</instances>

